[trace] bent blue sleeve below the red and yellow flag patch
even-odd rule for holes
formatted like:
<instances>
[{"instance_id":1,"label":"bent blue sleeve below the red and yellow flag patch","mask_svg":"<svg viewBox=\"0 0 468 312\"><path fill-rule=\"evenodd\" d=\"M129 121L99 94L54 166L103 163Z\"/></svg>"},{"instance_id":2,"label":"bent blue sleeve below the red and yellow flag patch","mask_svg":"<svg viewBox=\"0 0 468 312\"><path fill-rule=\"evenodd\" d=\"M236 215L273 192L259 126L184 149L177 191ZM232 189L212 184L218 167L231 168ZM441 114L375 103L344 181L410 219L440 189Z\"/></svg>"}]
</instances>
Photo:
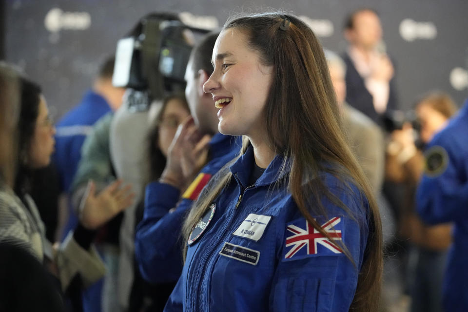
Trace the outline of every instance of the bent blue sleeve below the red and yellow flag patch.
<instances>
[{"instance_id":1,"label":"bent blue sleeve below the red and yellow flag patch","mask_svg":"<svg viewBox=\"0 0 468 312\"><path fill-rule=\"evenodd\" d=\"M150 183L146 187L145 212L135 237L135 258L141 275L151 283L176 282L182 272L179 243L185 212L192 200L183 199L168 184Z\"/></svg>"}]
</instances>

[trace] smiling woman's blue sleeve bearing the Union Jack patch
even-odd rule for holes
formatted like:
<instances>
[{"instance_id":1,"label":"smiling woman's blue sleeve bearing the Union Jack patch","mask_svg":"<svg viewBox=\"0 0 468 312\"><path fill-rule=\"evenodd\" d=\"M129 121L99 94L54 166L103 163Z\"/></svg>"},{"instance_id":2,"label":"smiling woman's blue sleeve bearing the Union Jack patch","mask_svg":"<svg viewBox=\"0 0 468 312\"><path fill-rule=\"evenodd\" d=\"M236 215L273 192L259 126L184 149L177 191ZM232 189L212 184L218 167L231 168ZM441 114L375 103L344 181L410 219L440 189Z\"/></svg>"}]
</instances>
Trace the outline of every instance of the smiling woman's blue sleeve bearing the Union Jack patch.
<instances>
[{"instance_id":1,"label":"smiling woman's blue sleeve bearing the Union Jack patch","mask_svg":"<svg viewBox=\"0 0 468 312\"><path fill-rule=\"evenodd\" d=\"M309 226L302 215L296 214L286 224L278 254L270 295L271 311L349 311L369 232L365 211L369 207L358 204L354 196L345 192L339 195L356 219L327 201L328 217L316 218L332 238L347 247L354 263Z\"/></svg>"}]
</instances>

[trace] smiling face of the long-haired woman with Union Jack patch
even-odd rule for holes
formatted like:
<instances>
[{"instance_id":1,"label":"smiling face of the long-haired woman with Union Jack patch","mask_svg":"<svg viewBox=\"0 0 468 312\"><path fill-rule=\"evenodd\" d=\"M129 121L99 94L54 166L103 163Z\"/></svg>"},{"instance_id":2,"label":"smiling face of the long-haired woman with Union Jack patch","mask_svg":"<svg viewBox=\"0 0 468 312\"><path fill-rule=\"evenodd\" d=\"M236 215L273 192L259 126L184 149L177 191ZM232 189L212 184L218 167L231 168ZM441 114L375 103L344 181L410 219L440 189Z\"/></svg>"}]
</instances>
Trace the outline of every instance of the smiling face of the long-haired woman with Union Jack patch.
<instances>
[{"instance_id":1,"label":"smiling face of the long-haired woman with Union Jack patch","mask_svg":"<svg viewBox=\"0 0 468 312\"><path fill-rule=\"evenodd\" d=\"M273 66L260 62L258 53L247 46L247 39L237 29L219 34L213 50L214 71L203 90L213 95L213 105L219 108L219 132L262 138Z\"/></svg>"}]
</instances>

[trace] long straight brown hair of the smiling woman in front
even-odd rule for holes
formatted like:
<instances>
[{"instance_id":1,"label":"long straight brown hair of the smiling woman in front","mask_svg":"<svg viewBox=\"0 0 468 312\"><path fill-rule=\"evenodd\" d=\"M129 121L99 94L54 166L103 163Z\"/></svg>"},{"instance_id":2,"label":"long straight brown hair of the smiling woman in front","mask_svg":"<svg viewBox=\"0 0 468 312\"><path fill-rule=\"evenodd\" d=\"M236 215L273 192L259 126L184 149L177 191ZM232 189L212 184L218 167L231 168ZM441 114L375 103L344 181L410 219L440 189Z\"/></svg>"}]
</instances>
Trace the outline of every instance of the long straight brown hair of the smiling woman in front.
<instances>
[{"instance_id":1,"label":"long straight brown hair of the smiling woman in front","mask_svg":"<svg viewBox=\"0 0 468 312\"><path fill-rule=\"evenodd\" d=\"M283 29L280 29L280 25L283 25ZM286 175L289 178L279 181L276 187L286 182L301 214L327 237L329 234L312 217L327 215L321 203L323 196L341 206L350 217L354 216L331 194L320 178L320 173L331 173L344 181L345 185L355 184L367 197L370 206L369 236L350 310L376 311L383 262L379 211L368 181L341 129L322 46L304 22L281 13L263 13L228 20L223 30L226 29L242 31L248 38L247 45L258 53L260 61L274 68L265 108L268 143L285 159L282 170L289 171L289 175ZM241 155L247 146L248 142L244 140ZM184 224L185 238L206 207L230 180L231 175L226 166L210 181ZM340 244L333 240L331 242ZM344 247L345 254L352 261Z\"/></svg>"}]
</instances>

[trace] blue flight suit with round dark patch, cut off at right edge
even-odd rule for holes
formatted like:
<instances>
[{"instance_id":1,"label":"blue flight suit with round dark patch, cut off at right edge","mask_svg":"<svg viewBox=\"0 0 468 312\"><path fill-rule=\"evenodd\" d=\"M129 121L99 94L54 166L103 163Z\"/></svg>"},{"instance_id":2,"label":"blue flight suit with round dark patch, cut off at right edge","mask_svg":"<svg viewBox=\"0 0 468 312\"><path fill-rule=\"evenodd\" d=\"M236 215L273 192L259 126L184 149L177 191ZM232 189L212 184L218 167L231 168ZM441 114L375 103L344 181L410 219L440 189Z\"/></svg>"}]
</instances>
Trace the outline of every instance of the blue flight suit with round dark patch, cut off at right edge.
<instances>
[{"instance_id":1,"label":"blue flight suit with round dark patch, cut off at right edge","mask_svg":"<svg viewBox=\"0 0 468 312\"><path fill-rule=\"evenodd\" d=\"M468 311L468 100L430 141L426 162L416 194L418 213L429 224L454 223L443 307Z\"/></svg>"}]
</instances>

